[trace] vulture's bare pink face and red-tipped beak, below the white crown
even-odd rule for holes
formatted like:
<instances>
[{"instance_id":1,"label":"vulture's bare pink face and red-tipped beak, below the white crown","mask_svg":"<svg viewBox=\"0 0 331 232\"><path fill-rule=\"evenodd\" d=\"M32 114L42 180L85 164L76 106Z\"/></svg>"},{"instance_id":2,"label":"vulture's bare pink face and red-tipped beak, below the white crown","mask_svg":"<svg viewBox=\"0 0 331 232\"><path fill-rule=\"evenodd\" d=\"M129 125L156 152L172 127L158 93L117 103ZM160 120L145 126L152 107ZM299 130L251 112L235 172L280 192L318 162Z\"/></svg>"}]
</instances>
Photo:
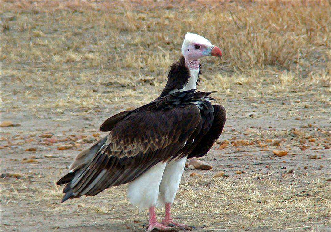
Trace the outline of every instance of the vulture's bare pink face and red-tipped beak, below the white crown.
<instances>
[{"instance_id":1,"label":"vulture's bare pink face and red-tipped beak, below the white crown","mask_svg":"<svg viewBox=\"0 0 331 232\"><path fill-rule=\"evenodd\" d=\"M190 60L198 60L204 56L218 56L221 57L221 50L214 45L206 45L192 42L187 45L183 53L185 58Z\"/></svg>"}]
</instances>

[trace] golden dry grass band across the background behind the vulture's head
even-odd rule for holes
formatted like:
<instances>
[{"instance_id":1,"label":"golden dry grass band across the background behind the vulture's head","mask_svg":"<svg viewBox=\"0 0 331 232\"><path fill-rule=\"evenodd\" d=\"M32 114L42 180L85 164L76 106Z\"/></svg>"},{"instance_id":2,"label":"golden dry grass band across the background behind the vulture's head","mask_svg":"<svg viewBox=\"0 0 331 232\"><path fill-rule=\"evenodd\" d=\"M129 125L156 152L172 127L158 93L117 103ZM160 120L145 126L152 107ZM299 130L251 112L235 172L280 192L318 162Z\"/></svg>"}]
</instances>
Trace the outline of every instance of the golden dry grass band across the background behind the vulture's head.
<instances>
[{"instance_id":1,"label":"golden dry grass band across the background behind the vulture's head","mask_svg":"<svg viewBox=\"0 0 331 232\"><path fill-rule=\"evenodd\" d=\"M3 109L19 110L17 101L27 109L146 103L164 86L187 31L223 50L221 60L202 61L216 97L250 97L247 87L259 97L330 93L328 1L22 1L3 2L1 15Z\"/></svg>"}]
</instances>

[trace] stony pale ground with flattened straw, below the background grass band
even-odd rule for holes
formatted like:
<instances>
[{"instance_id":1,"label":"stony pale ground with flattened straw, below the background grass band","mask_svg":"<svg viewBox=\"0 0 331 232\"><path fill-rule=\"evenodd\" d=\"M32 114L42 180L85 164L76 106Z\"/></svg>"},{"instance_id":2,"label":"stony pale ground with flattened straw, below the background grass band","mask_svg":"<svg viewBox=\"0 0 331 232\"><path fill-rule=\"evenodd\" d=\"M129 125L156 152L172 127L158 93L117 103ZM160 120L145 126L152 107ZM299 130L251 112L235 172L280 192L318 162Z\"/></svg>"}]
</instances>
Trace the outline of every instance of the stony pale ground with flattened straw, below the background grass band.
<instances>
[{"instance_id":1,"label":"stony pale ground with flattened straw, below the background grass band","mask_svg":"<svg viewBox=\"0 0 331 232\"><path fill-rule=\"evenodd\" d=\"M301 100L305 101L304 98ZM269 99L258 106L248 101L239 104L231 99L222 102L228 118L219 141L247 140L252 145L229 145L224 150L217 150L219 145L215 144L204 157L213 169L185 168L174 203L175 218L195 225L201 231L292 230L283 225L282 215L277 215L283 210L291 210L297 214L293 229L329 230L330 120L327 114L310 107L301 110L302 117L297 118L301 120L284 119L284 111L278 106L291 104L286 99ZM93 134L102 136L98 134L98 126L117 112L92 111L74 117L70 112L61 117L42 112L39 118L27 111L15 115L2 113L3 121L22 125L2 128L0 144L5 148L1 150L1 173L23 174L20 178L7 176L1 179L2 230L143 230L147 214L130 207L125 198L126 186L64 204L60 204L62 187L55 186L55 181L68 171L78 150L91 145L84 143L78 148L60 151L57 150L59 144L77 144L74 141L84 136L94 138ZM304 117L309 115L313 117ZM54 118L62 120L55 121ZM243 135L250 127L253 127L252 134ZM45 133L67 141L45 143L45 138L40 137ZM301 151L302 144L298 140L304 137L316 141L306 139L307 150ZM269 142L263 142L267 138ZM274 141L280 141L280 145L272 146ZM26 152L28 148L37 148L37 151ZM288 155L277 157L273 150L285 150ZM24 159L30 158L33 159L31 163L24 163ZM214 178L218 171L224 171L225 176ZM242 173L236 174L239 173L236 171ZM191 177L192 172L201 176ZM245 209L245 205L253 209ZM159 215L163 214L164 211L160 211ZM277 219L273 219L274 215ZM239 223L244 226L238 228Z\"/></svg>"}]
</instances>

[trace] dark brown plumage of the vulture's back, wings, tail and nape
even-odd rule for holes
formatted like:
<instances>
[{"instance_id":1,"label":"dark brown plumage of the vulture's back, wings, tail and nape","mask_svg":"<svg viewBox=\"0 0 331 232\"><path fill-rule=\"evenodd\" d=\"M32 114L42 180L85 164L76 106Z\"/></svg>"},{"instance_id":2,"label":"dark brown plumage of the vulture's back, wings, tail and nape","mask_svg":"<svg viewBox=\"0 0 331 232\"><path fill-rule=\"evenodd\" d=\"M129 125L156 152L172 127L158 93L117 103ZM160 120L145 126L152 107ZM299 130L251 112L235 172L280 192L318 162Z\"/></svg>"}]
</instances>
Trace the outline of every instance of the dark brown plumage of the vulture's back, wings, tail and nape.
<instances>
[{"instance_id":1,"label":"dark brown plumage of the vulture's back, wings, tail and nape","mask_svg":"<svg viewBox=\"0 0 331 232\"><path fill-rule=\"evenodd\" d=\"M209 97L212 92L192 89L170 94L182 89L188 78L181 57L171 66L157 99L105 120L100 130L110 131L109 135L78 154L71 172L57 182L67 184L62 202L130 182L159 162L204 156L219 137L226 114L209 102L214 100Z\"/></svg>"}]
</instances>

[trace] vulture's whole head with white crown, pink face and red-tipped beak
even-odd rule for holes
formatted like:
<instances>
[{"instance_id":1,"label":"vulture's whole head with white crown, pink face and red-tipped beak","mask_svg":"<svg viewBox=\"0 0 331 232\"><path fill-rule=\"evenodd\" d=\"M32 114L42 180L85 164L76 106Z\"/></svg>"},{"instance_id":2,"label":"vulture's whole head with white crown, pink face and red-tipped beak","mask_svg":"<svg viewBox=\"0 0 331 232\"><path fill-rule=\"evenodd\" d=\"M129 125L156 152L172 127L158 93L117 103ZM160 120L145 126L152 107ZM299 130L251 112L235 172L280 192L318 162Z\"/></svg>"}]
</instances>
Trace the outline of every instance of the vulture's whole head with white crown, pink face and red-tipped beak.
<instances>
[{"instance_id":1,"label":"vulture's whole head with white crown, pink face and red-tipped beak","mask_svg":"<svg viewBox=\"0 0 331 232\"><path fill-rule=\"evenodd\" d=\"M193 33L186 33L182 54L186 60L198 60L204 56L222 56L221 50L208 39Z\"/></svg>"}]
</instances>

